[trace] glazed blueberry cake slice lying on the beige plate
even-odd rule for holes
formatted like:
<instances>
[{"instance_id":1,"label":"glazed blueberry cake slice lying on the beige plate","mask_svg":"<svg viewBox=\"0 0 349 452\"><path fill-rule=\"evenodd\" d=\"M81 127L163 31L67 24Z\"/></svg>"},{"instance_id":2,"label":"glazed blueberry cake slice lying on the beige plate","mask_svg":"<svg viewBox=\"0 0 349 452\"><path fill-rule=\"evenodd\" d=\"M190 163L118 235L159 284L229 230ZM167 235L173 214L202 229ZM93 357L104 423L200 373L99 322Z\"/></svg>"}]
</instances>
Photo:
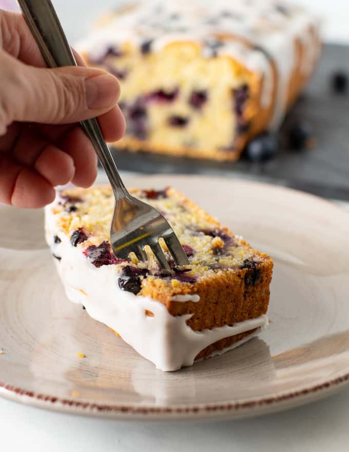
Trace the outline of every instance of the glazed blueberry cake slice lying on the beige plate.
<instances>
[{"instance_id":1,"label":"glazed blueberry cake slice lying on the beige plate","mask_svg":"<svg viewBox=\"0 0 349 452\"><path fill-rule=\"evenodd\" d=\"M175 230L189 265L170 273L150 249L115 258L109 187L60 192L45 212L46 240L67 296L159 369L176 370L234 348L266 326L273 261L176 190L133 190Z\"/></svg>"}]
</instances>

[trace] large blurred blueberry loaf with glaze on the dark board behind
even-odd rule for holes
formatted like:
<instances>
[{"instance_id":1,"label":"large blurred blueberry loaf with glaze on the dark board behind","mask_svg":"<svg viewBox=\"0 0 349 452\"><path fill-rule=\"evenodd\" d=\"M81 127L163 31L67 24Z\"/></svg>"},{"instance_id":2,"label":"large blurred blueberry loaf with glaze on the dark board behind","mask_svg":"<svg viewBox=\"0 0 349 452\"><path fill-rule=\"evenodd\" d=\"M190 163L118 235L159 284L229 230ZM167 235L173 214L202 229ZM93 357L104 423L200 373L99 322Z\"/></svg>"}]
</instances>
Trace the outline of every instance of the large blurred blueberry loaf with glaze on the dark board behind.
<instances>
[{"instance_id":1,"label":"large blurred blueberry loaf with glaze on the dark board behind","mask_svg":"<svg viewBox=\"0 0 349 452\"><path fill-rule=\"evenodd\" d=\"M236 160L305 86L319 25L284 0L150 0L110 13L79 49L120 81L115 146Z\"/></svg>"}]
</instances>

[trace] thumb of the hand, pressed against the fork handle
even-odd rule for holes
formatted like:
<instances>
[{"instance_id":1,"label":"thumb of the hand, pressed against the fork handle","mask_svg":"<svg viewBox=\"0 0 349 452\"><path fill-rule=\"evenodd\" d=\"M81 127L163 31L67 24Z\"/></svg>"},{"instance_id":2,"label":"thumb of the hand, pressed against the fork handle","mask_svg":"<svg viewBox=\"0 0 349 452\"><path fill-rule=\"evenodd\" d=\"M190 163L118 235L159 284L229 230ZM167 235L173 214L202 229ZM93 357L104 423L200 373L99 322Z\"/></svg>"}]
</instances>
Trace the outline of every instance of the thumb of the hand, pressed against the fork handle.
<instances>
[{"instance_id":1,"label":"thumb of the hand, pressed against the fork handle","mask_svg":"<svg viewBox=\"0 0 349 452\"><path fill-rule=\"evenodd\" d=\"M37 68L2 51L0 67L0 134L13 121L82 121L109 111L119 99L118 80L99 69Z\"/></svg>"}]
</instances>

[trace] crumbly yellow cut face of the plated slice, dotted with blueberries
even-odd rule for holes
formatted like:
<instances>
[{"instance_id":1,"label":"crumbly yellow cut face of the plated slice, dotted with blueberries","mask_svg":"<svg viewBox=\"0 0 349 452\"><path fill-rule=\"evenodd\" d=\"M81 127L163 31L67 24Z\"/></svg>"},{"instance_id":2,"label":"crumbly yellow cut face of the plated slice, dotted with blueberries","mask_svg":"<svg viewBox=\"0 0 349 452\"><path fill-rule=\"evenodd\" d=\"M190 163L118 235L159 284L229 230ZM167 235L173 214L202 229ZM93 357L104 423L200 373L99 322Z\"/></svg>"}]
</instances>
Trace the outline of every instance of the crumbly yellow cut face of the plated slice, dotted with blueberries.
<instances>
[{"instance_id":1,"label":"crumbly yellow cut face of the plated slice, dotted with blueberries","mask_svg":"<svg viewBox=\"0 0 349 452\"><path fill-rule=\"evenodd\" d=\"M172 280L192 284L212 273L253 268L264 258L241 237L222 227L217 220L170 187L163 190L131 190L131 193L154 206L168 220L188 255L189 266L176 267L171 262L164 241L160 243L170 262L171 275L162 273L150 249L145 250L147 262L139 262L132 255L128 261L115 258L109 235L114 207L110 187L64 190L49 209L55 217L56 227L68 236L71 246L81 248L95 267L115 265L120 267L119 272L127 267L126 272L139 273L143 277L161 277L174 286L176 281Z\"/></svg>"}]
</instances>

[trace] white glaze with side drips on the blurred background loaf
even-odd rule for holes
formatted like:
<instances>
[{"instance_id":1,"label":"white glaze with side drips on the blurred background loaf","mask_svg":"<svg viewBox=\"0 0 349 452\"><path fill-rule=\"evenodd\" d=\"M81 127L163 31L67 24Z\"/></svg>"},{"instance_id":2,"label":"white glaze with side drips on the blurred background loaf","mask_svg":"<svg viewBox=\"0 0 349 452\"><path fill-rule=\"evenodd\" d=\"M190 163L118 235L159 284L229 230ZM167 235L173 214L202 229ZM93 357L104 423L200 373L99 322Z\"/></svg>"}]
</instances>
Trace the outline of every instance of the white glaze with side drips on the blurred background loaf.
<instances>
[{"instance_id":1,"label":"white glaze with side drips on the blurred background loaf","mask_svg":"<svg viewBox=\"0 0 349 452\"><path fill-rule=\"evenodd\" d=\"M286 7L289 15L277 11L276 5ZM232 16L223 17L222 11L229 11ZM171 21L170 15L176 13L180 14L180 20ZM218 16L219 23L206 22L207 18ZM178 26L183 30L178 32ZM311 26L318 33L317 17L284 0L167 0L166 3L149 0L132 12L116 17L110 25L81 42L79 48L96 55L103 53L103 47L108 44L125 41L139 44L145 39L153 39L152 49L158 51L169 43L191 40L203 44L203 55L209 58L210 49L205 44L207 38L214 37L217 32L240 36L258 49L238 41L225 41L218 54L230 55L261 74L261 103L265 108L272 103L275 83L268 58L275 63L277 86L270 129L276 129L286 111L287 87L295 68L295 40L301 41L305 53L302 73L308 75L319 56L320 47L314 45L309 31Z\"/></svg>"}]
</instances>

